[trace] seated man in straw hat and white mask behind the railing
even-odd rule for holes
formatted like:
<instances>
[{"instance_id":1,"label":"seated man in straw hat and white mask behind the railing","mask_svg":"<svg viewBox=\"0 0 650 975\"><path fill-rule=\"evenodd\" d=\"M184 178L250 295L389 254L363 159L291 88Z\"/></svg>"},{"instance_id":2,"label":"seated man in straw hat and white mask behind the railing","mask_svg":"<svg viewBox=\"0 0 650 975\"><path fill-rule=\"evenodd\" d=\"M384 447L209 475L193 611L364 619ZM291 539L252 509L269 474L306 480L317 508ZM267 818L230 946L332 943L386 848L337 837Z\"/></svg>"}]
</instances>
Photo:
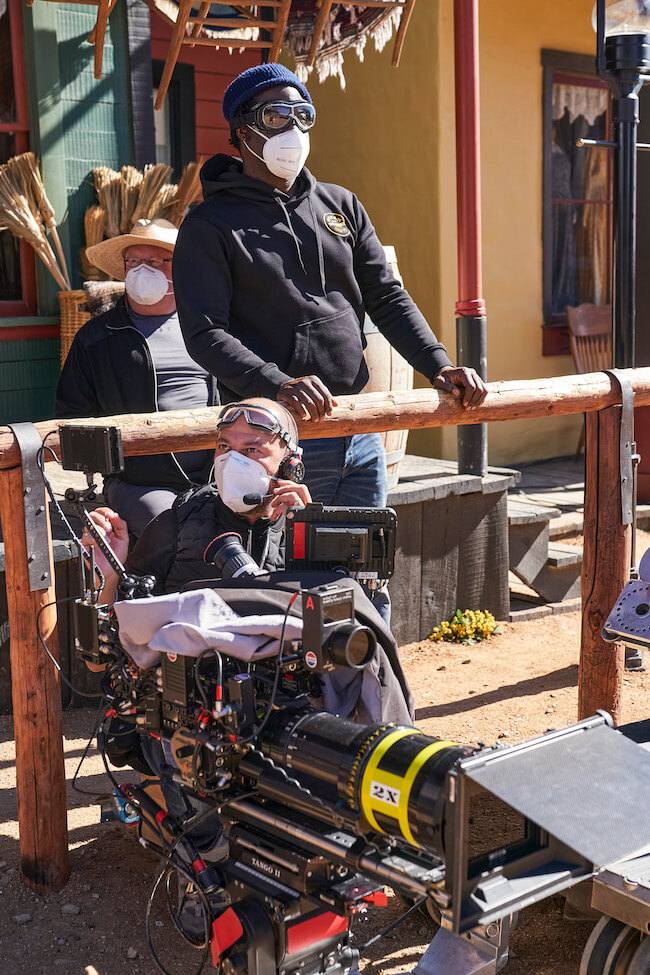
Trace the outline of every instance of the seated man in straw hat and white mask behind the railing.
<instances>
[{"instance_id":1,"label":"seated man in straw hat and white mask behind the railing","mask_svg":"<svg viewBox=\"0 0 650 975\"><path fill-rule=\"evenodd\" d=\"M88 259L126 295L74 338L56 396L57 417L154 413L212 406L212 377L185 348L176 312L172 254L178 231L167 220L139 220L131 233L89 247ZM205 484L208 450L126 457L106 478L108 504L138 536L178 494Z\"/></svg>"}]
</instances>

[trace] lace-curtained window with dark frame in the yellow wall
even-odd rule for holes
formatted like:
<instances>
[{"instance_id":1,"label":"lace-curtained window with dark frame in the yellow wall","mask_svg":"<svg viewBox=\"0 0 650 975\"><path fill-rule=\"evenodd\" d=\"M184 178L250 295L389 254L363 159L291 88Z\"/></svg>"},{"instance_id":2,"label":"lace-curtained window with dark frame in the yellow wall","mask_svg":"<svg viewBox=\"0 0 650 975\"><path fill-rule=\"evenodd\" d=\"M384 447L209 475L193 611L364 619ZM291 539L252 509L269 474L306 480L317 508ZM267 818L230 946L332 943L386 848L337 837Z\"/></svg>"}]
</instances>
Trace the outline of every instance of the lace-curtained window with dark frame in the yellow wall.
<instances>
[{"instance_id":1,"label":"lace-curtained window with dark frame in the yellow wall","mask_svg":"<svg viewBox=\"0 0 650 975\"><path fill-rule=\"evenodd\" d=\"M544 326L555 330L544 351L553 354L568 351L567 305L611 300L611 150L576 145L611 138L611 99L571 70L582 59L546 53L555 55L544 79Z\"/></svg>"}]
</instances>

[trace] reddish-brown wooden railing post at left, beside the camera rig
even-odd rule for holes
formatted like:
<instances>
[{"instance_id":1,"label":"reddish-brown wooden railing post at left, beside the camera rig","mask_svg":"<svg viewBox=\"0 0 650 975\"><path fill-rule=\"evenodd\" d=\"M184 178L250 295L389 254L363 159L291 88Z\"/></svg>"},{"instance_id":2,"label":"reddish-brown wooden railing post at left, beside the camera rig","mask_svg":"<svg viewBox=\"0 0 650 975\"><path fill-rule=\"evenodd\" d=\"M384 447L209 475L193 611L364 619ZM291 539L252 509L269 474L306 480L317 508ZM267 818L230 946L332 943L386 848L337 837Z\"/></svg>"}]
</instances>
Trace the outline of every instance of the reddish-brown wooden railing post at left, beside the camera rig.
<instances>
[{"instance_id":1,"label":"reddish-brown wooden railing post at left, beside the camera rig","mask_svg":"<svg viewBox=\"0 0 650 975\"><path fill-rule=\"evenodd\" d=\"M54 562L48 517L52 585L30 592L20 467L0 471L0 521L9 610L20 867L28 887L47 892L60 890L70 876L61 687L36 631L39 610L55 598ZM39 624L50 653L58 659L55 605L43 610Z\"/></svg>"}]
</instances>

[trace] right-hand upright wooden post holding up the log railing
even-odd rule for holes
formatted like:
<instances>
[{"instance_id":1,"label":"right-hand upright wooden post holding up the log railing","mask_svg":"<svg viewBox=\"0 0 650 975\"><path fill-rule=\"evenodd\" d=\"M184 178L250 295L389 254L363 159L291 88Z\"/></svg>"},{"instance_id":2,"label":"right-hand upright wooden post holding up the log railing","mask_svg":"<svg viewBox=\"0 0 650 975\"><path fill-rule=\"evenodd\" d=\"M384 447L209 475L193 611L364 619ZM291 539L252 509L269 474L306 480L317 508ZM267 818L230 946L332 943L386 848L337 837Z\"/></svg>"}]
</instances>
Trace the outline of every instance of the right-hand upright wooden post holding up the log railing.
<instances>
[{"instance_id":1,"label":"right-hand upright wooden post holding up the log railing","mask_svg":"<svg viewBox=\"0 0 650 975\"><path fill-rule=\"evenodd\" d=\"M625 648L605 643L601 630L630 571L632 526L621 519L621 407L588 413L586 424L578 717L604 708L618 724Z\"/></svg>"}]
</instances>

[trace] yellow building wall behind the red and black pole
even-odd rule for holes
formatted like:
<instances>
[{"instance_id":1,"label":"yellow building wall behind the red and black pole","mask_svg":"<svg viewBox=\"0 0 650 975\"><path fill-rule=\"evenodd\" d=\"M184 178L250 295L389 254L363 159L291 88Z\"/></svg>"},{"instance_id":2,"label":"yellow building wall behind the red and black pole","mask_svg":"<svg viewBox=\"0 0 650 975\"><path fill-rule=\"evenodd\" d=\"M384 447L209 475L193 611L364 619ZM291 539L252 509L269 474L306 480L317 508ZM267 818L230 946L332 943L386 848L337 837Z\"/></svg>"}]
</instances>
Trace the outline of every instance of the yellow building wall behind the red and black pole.
<instances>
[{"instance_id":1,"label":"yellow building wall behind the red and black pole","mask_svg":"<svg viewBox=\"0 0 650 975\"><path fill-rule=\"evenodd\" d=\"M483 285L488 378L573 372L542 356L541 50L595 51L593 0L480 0ZM455 358L457 295L453 4L419 0L398 69L392 42L365 61L345 58L338 79L309 83L318 120L308 165L358 194L404 282ZM288 62L289 63L289 62ZM417 381L417 377L416 377ZM581 418L493 423L492 464L569 454ZM413 432L409 450L455 456L456 430Z\"/></svg>"}]
</instances>

